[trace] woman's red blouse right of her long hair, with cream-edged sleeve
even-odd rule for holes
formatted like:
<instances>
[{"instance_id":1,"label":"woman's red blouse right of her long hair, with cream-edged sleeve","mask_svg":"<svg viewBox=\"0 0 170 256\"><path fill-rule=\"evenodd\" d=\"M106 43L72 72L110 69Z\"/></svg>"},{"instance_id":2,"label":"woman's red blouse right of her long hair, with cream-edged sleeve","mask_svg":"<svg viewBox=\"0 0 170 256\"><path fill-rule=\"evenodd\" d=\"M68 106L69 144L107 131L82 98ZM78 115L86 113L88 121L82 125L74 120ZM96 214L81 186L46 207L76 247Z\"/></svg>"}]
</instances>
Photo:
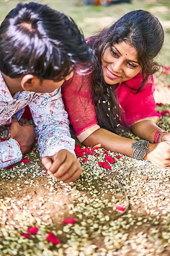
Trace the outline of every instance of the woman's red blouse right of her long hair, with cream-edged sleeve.
<instances>
[{"instance_id":1,"label":"woman's red blouse right of her long hair, with cream-edged sleeve","mask_svg":"<svg viewBox=\"0 0 170 256\"><path fill-rule=\"evenodd\" d=\"M157 122L161 117L161 114L156 113L155 109L153 76L150 76L144 87L139 93L136 93L133 89L138 88L141 82L142 74L139 73L133 79L126 81L126 84L119 84L116 88L118 101L122 107L122 112L124 112L123 117L127 126L142 121L142 119Z\"/></svg>"}]
</instances>

